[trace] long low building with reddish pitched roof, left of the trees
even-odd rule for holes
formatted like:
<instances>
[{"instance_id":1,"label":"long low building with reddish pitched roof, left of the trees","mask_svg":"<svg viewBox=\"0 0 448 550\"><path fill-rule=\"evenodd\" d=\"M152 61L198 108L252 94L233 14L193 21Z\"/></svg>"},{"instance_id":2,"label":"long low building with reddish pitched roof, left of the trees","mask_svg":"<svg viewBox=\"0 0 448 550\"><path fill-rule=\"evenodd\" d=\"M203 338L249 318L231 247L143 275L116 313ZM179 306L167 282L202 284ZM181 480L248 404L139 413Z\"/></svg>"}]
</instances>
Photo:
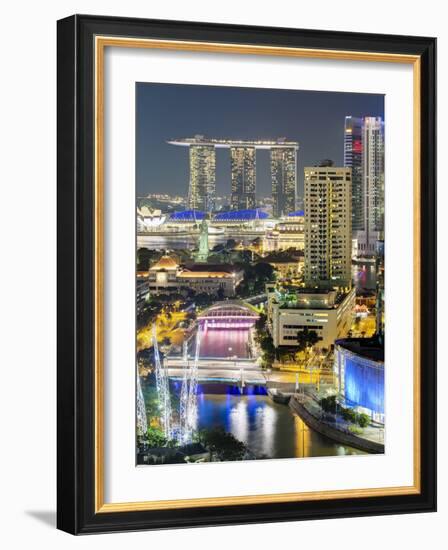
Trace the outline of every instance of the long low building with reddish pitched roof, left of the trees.
<instances>
[{"instance_id":1,"label":"long low building with reddish pitched roof, left of the trees","mask_svg":"<svg viewBox=\"0 0 448 550\"><path fill-rule=\"evenodd\" d=\"M228 264L180 265L170 256L162 256L147 275L149 291L154 294L192 289L207 294L235 296L243 279L242 270Z\"/></svg>"}]
</instances>

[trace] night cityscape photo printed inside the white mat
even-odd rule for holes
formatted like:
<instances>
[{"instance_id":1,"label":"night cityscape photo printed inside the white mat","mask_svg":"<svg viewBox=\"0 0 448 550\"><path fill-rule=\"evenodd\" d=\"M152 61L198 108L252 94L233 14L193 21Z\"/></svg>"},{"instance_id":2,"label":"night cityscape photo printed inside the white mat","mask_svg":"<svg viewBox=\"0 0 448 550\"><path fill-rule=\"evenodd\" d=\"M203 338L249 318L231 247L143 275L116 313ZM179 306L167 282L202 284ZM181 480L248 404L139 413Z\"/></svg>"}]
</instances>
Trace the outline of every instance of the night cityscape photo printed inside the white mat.
<instances>
[{"instance_id":1,"label":"night cityscape photo printed inside the white mat","mask_svg":"<svg viewBox=\"0 0 448 550\"><path fill-rule=\"evenodd\" d=\"M384 453L383 108L137 87L137 464Z\"/></svg>"}]
</instances>

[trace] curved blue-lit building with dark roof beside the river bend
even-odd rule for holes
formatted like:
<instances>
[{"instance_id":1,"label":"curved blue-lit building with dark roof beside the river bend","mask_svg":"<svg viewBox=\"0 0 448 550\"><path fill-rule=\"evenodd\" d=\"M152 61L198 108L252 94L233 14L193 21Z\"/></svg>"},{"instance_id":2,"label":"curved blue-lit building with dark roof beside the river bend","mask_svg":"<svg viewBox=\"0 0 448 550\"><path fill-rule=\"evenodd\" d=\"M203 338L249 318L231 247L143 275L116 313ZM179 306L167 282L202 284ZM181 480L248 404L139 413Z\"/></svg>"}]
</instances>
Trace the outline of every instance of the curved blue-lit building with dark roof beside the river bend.
<instances>
[{"instance_id":1,"label":"curved blue-lit building with dark roof beside the river bend","mask_svg":"<svg viewBox=\"0 0 448 550\"><path fill-rule=\"evenodd\" d=\"M378 338L336 340L335 373L346 405L384 423L384 344Z\"/></svg>"}]
</instances>

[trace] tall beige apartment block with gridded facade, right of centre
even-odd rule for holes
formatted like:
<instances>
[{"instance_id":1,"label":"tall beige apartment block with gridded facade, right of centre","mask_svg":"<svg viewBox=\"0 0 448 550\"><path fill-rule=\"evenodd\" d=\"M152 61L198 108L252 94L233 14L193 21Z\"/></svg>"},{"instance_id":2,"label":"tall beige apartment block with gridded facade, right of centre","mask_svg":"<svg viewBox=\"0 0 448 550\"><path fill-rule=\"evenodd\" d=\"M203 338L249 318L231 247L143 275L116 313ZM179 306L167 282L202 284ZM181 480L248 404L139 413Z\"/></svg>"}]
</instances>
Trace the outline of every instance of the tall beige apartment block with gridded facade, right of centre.
<instances>
[{"instance_id":1,"label":"tall beige apartment block with gridded facade, right of centre","mask_svg":"<svg viewBox=\"0 0 448 550\"><path fill-rule=\"evenodd\" d=\"M351 287L351 169L305 168L305 284Z\"/></svg>"}]
</instances>

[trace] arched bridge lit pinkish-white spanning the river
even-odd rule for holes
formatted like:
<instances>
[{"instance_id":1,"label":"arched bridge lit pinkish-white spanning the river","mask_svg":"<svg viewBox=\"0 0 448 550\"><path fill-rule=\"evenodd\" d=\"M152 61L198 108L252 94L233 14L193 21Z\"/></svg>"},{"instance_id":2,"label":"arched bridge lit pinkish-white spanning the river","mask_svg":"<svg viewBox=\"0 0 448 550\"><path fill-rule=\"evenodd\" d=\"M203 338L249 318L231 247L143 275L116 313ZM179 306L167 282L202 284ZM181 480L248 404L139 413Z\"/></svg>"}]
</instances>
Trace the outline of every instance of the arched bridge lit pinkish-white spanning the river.
<instances>
[{"instance_id":1,"label":"arched bridge lit pinkish-white spanning the river","mask_svg":"<svg viewBox=\"0 0 448 550\"><path fill-rule=\"evenodd\" d=\"M205 329L250 328L259 318L257 310L240 300L217 302L198 315L198 322Z\"/></svg>"}]
</instances>

